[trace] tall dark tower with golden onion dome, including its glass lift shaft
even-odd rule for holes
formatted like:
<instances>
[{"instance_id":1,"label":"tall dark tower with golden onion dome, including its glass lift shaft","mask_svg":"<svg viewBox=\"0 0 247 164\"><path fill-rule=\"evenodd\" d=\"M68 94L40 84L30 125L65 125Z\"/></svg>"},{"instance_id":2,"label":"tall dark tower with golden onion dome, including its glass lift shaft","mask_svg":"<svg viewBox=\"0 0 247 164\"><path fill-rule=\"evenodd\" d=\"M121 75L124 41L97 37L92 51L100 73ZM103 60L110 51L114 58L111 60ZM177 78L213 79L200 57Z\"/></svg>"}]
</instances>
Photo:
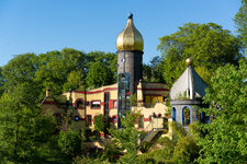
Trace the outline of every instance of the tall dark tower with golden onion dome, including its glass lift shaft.
<instances>
[{"instance_id":1,"label":"tall dark tower with golden onion dome, including its glass lift shaft","mask_svg":"<svg viewBox=\"0 0 247 164\"><path fill-rule=\"evenodd\" d=\"M131 96L143 78L143 36L136 30L131 13L126 26L116 38L117 48L117 116L131 110ZM119 128L120 119L119 119Z\"/></svg>"}]
</instances>

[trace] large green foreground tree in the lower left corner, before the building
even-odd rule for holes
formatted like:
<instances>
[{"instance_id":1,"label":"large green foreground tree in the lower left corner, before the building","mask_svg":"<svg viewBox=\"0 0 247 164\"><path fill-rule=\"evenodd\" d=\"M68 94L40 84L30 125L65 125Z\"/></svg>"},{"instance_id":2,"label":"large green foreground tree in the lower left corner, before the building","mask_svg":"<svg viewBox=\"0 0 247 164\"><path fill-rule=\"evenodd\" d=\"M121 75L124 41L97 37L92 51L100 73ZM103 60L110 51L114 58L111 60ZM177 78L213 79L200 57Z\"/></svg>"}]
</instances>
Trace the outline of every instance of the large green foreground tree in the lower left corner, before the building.
<instances>
[{"instance_id":1,"label":"large green foreground tree in the lower left corner, before the building","mask_svg":"<svg viewBox=\"0 0 247 164\"><path fill-rule=\"evenodd\" d=\"M54 131L53 119L41 115L33 101L33 90L22 83L9 89L0 98L0 159L35 163L49 151L42 148Z\"/></svg>"}]
</instances>

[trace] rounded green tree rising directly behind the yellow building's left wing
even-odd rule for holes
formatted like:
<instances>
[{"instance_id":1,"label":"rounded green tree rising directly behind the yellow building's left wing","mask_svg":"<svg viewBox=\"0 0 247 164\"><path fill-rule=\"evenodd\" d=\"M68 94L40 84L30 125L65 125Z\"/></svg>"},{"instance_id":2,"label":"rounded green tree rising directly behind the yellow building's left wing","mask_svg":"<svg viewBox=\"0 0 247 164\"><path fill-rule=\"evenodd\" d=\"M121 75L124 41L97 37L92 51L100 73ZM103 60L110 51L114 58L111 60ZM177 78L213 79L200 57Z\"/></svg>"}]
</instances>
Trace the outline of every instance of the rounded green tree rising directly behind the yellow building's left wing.
<instances>
[{"instance_id":1,"label":"rounded green tree rising directly behind the yellow building's left wing","mask_svg":"<svg viewBox=\"0 0 247 164\"><path fill-rule=\"evenodd\" d=\"M82 87L83 83L80 80L87 73L85 58L83 52L71 48L41 54L37 57L38 69L35 72L35 81L40 82L43 89L53 89L55 95L68 90L75 83L71 89Z\"/></svg>"}]
</instances>

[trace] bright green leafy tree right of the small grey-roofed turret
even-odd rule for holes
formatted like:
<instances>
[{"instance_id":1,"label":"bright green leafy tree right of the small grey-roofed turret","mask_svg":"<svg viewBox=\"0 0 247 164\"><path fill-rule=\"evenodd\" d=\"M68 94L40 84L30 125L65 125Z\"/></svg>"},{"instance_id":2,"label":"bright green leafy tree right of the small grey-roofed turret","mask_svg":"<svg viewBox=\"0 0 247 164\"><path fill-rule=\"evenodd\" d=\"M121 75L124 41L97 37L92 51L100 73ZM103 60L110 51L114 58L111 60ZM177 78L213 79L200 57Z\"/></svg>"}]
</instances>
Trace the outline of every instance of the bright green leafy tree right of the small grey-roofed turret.
<instances>
[{"instance_id":1,"label":"bright green leafy tree right of the small grey-roofed turret","mask_svg":"<svg viewBox=\"0 0 247 164\"><path fill-rule=\"evenodd\" d=\"M239 67L226 65L216 70L206 90L204 109L211 116L209 125L201 125L199 162L246 163L247 161L247 61Z\"/></svg>"}]
</instances>

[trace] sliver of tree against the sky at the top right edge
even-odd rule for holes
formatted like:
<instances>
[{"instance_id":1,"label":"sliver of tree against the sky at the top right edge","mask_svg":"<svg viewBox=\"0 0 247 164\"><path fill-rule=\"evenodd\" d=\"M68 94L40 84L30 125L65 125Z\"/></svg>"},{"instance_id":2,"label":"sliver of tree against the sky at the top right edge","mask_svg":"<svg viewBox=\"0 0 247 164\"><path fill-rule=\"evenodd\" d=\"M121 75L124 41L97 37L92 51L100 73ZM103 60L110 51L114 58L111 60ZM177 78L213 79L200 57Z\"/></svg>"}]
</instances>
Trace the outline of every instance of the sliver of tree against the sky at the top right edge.
<instances>
[{"instance_id":1,"label":"sliver of tree against the sky at the top right edge","mask_svg":"<svg viewBox=\"0 0 247 164\"><path fill-rule=\"evenodd\" d=\"M247 0L242 0L242 7L235 15L234 22L237 26L237 32L240 34L240 39L247 48ZM245 51L247 55L247 50Z\"/></svg>"}]
</instances>

